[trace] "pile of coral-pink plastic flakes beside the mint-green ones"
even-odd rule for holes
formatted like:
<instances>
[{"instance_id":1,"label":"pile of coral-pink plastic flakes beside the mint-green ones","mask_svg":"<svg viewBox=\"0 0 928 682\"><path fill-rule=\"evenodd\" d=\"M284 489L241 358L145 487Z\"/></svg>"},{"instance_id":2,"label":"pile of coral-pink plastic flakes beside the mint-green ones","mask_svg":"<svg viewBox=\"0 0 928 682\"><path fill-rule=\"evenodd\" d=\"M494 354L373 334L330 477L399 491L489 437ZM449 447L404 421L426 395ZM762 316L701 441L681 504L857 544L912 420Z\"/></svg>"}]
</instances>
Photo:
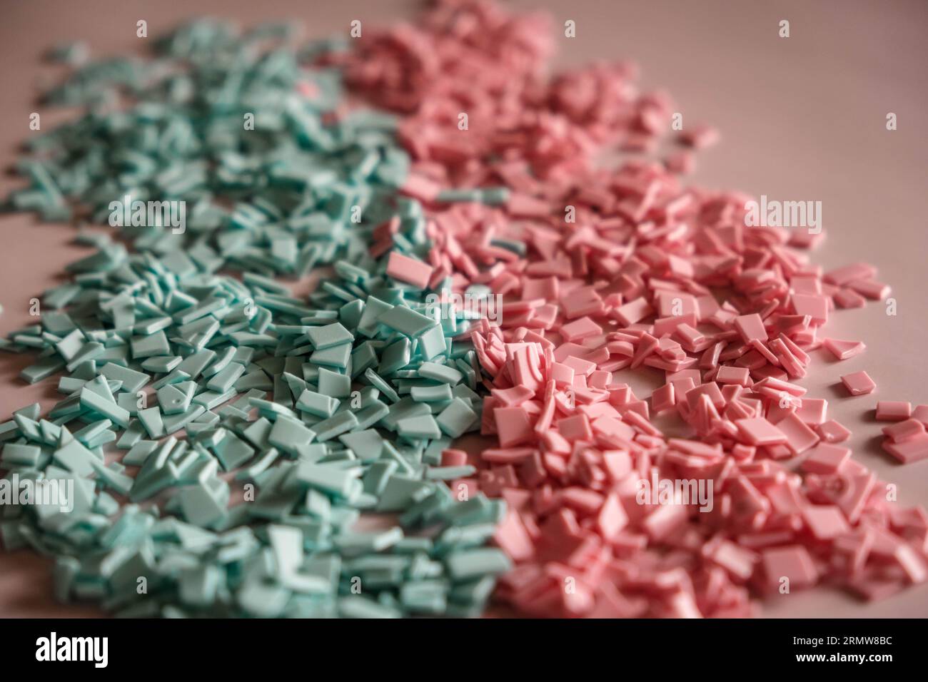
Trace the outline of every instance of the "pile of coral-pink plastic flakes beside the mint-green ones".
<instances>
[{"instance_id":1,"label":"pile of coral-pink plastic flakes beside the mint-green ones","mask_svg":"<svg viewBox=\"0 0 928 682\"><path fill-rule=\"evenodd\" d=\"M863 350L824 328L836 306L888 295L876 269L823 273L804 253L820 235L747 226L749 197L685 187L686 147L711 144L710 127L663 161L598 167L677 135L672 104L638 92L629 65L547 79L552 35L543 18L441 2L338 59L405 117L432 287L505 297L471 335L498 444L453 483L509 504L496 543L516 568L497 597L531 615L737 617L769 592L879 598L925 580L928 516L887 501L802 386L821 344ZM462 188L504 199L443 199ZM632 371L664 385L638 396ZM690 437L657 428L664 412ZM905 424L892 443L928 456L924 419Z\"/></svg>"}]
</instances>

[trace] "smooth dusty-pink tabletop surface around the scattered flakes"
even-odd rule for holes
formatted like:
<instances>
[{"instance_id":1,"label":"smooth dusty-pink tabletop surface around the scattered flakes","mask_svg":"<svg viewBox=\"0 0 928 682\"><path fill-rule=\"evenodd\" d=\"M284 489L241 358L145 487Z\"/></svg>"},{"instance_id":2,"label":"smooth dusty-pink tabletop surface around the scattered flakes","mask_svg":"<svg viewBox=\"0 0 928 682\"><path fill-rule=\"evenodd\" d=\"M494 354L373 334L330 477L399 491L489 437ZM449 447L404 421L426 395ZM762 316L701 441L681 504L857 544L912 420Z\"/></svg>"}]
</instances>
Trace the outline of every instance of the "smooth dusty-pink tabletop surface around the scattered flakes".
<instances>
[{"instance_id":1,"label":"smooth dusty-pink tabletop surface around the scattered flakes","mask_svg":"<svg viewBox=\"0 0 928 682\"><path fill-rule=\"evenodd\" d=\"M740 189L769 199L819 200L828 237L815 253L826 268L869 261L893 287L898 315L882 303L839 311L826 335L867 343L867 352L842 363L824 351L803 380L809 395L830 400L829 415L854 431L855 457L898 484L901 504L928 503L928 461L897 465L880 448L879 399L928 403L924 323L925 201L928 197L928 3L736 2L603 0L512 2L544 8L555 26L576 21L576 38L558 39L556 66L593 59L632 58L642 83L670 92L684 124L711 122L719 146L702 153L692 180L702 187ZM352 19L365 26L411 18L406 0L0 0L0 158L7 167L42 113L49 129L65 112L37 109L35 96L59 71L40 57L47 47L85 40L95 56L143 47L135 21L148 35L180 19L210 14L251 24L299 19L307 36L345 32ZM778 36L789 19L791 37ZM562 32L559 33L562 35ZM150 40L150 37L148 38ZM898 130L885 128L895 112ZM0 177L0 196L16 187ZM71 243L73 228L45 225L32 215L0 216L0 334L34 323L29 300L60 282L64 266L88 251ZM0 354L0 420L23 405L58 400L56 380L26 386L17 378L31 356ZM866 369L878 389L846 397L842 374ZM633 386L636 380L632 380ZM647 385L638 381L648 395ZM653 385L653 384L651 384ZM89 607L61 607L50 598L50 564L27 552L0 554L0 616L93 615ZM928 585L867 604L819 588L769 598L773 617L928 616Z\"/></svg>"}]
</instances>

